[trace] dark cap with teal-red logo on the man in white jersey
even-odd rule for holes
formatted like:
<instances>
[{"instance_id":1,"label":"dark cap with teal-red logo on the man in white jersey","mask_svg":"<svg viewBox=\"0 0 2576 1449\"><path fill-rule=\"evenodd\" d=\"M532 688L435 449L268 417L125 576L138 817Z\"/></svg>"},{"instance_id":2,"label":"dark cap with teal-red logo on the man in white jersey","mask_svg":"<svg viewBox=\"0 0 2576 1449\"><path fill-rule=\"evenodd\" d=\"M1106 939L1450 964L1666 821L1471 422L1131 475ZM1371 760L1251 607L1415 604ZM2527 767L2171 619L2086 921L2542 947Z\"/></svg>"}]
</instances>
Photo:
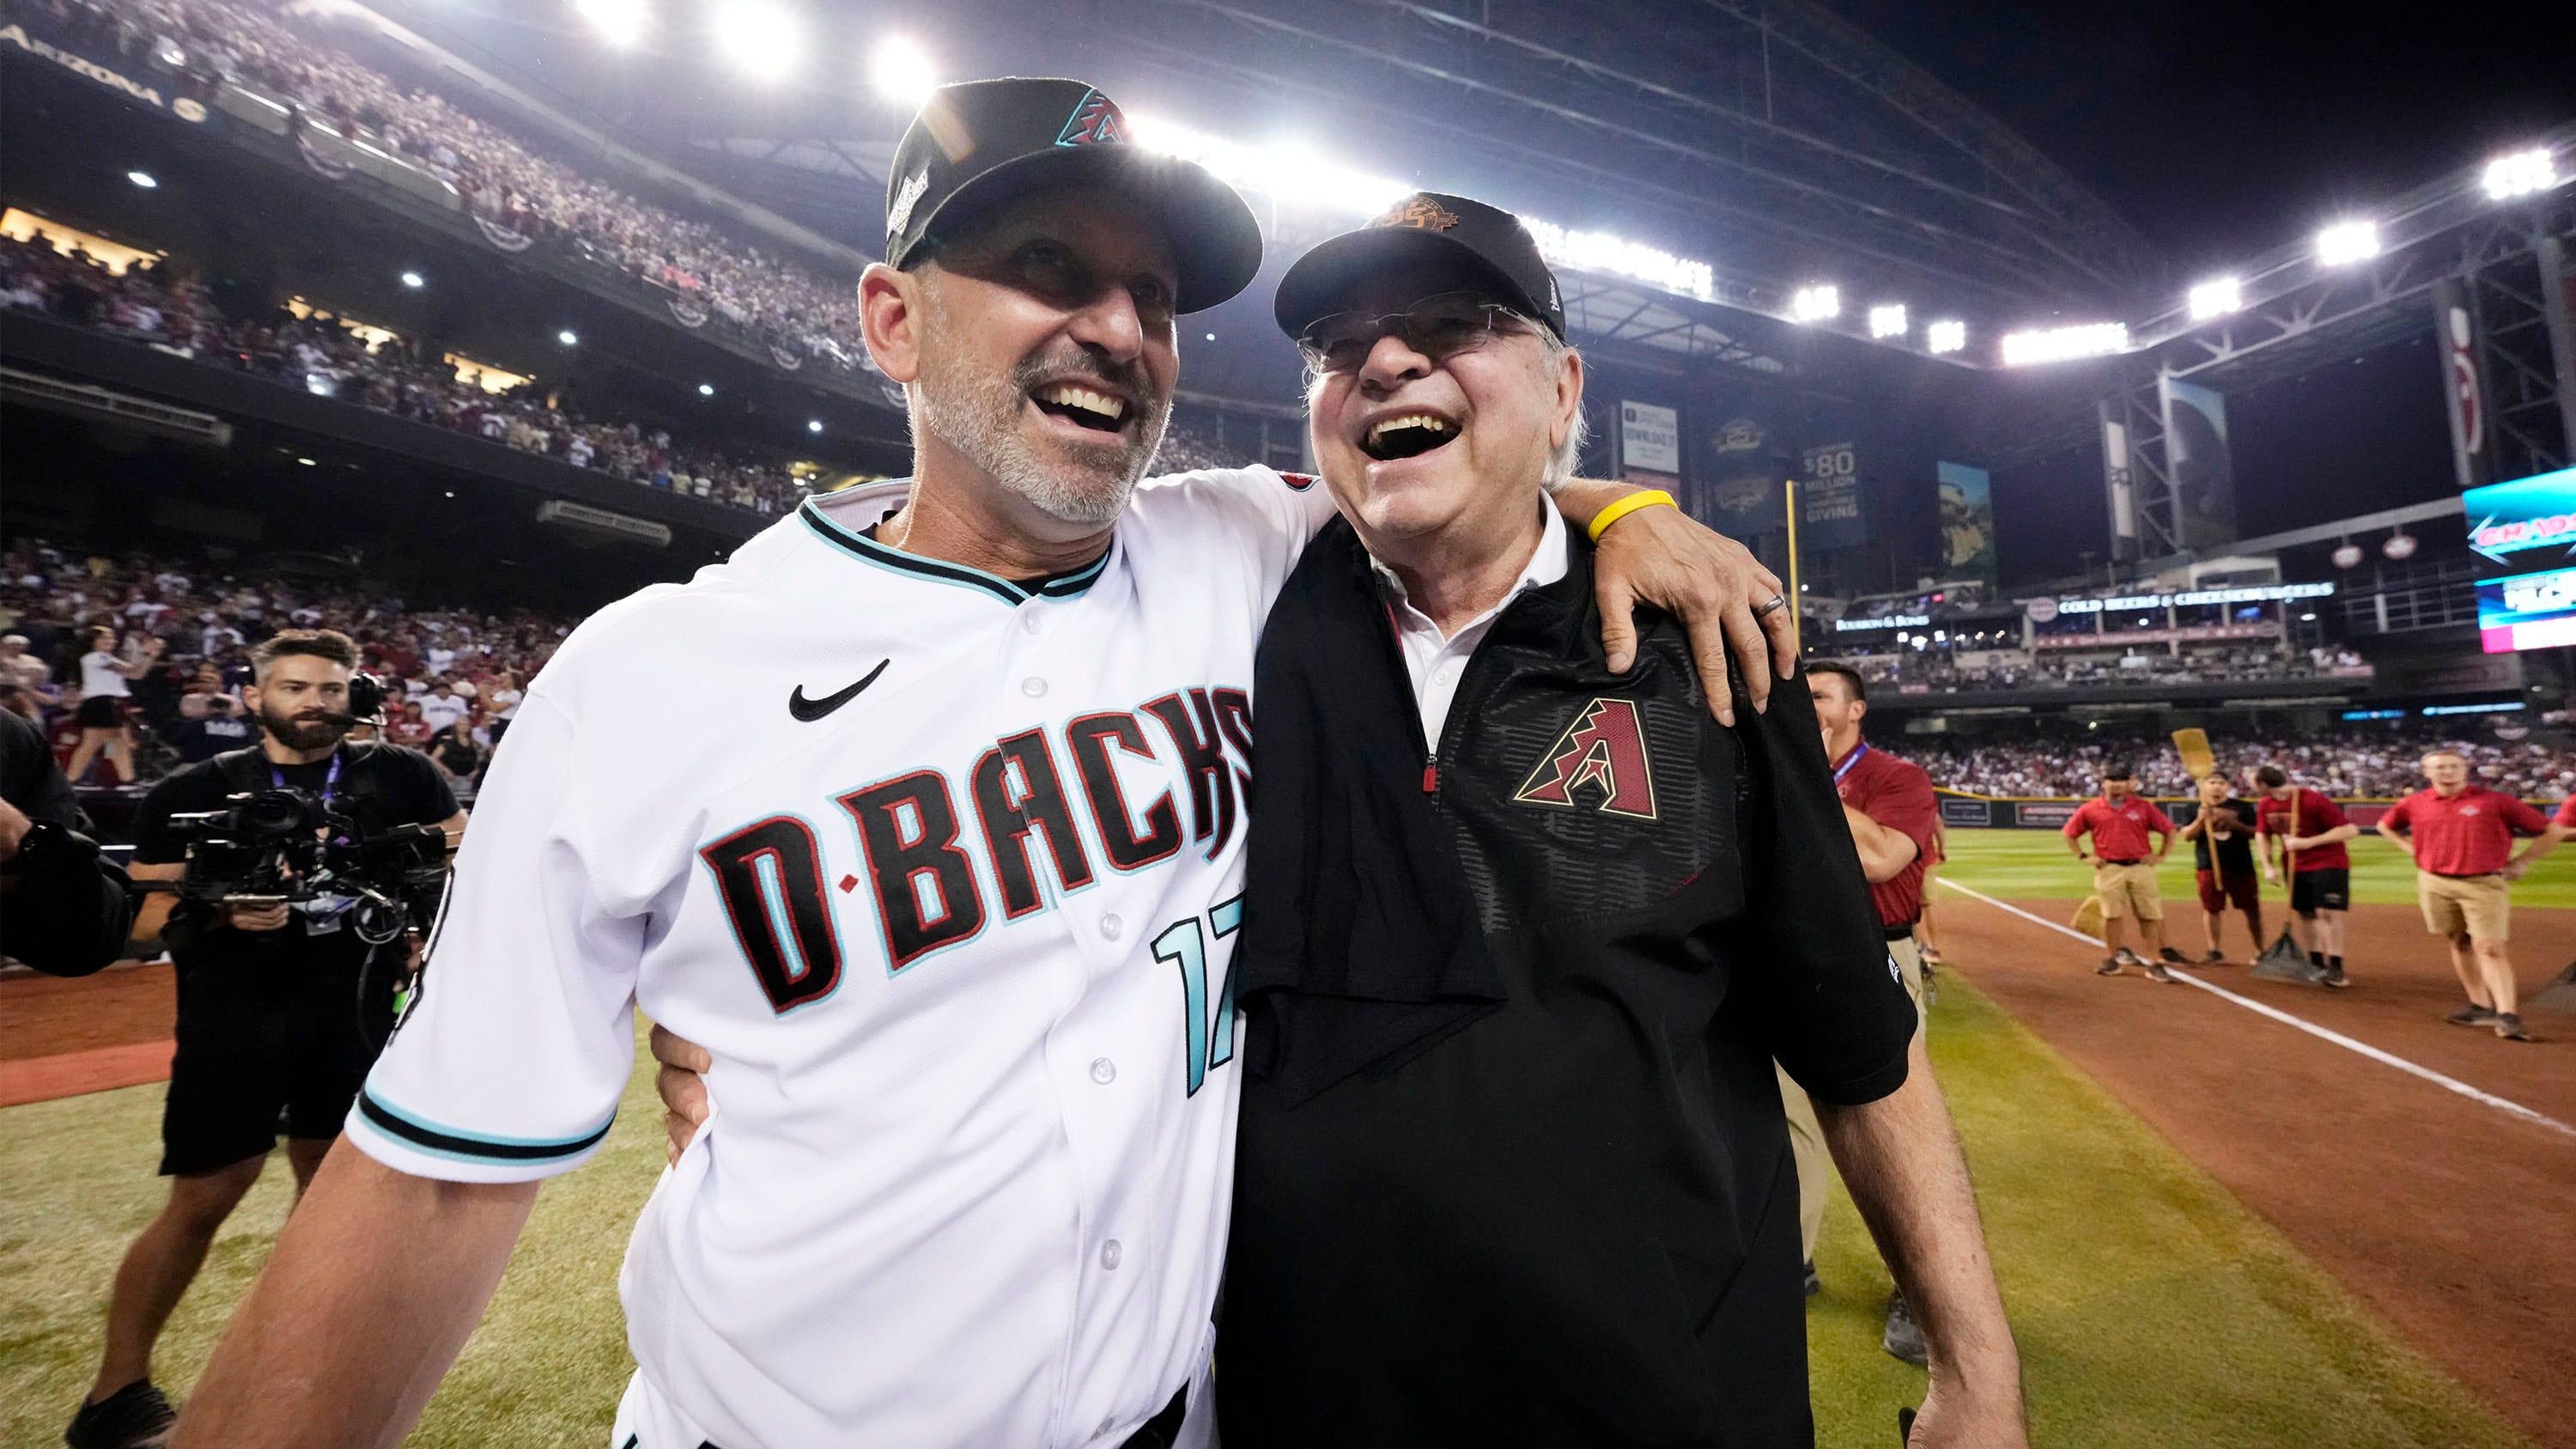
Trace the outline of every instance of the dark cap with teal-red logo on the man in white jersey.
<instances>
[{"instance_id":1,"label":"dark cap with teal-red logo on the man in white jersey","mask_svg":"<svg viewBox=\"0 0 2576 1449\"><path fill-rule=\"evenodd\" d=\"M1172 248L1182 312L1234 297L1262 266L1260 222L1231 186L1133 144L1097 88L1023 77L940 85L912 119L886 175L886 263L912 268L981 211L1056 186L1131 193Z\"/></svg>"}]
</instances>

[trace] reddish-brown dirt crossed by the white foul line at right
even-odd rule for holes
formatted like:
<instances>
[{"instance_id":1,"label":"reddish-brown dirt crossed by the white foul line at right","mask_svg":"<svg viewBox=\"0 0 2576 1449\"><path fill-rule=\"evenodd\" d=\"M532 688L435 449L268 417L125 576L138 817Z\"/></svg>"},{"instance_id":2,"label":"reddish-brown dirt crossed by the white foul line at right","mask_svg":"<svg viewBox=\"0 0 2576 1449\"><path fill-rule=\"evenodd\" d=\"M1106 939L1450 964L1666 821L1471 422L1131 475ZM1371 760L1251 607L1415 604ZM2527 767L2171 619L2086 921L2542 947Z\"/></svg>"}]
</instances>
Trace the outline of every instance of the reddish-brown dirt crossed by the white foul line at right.
<instances>
[{"instance_id":1,"label":"reddish-brown dirt crossed by the white foul line at right","mask_svg":"<svg viewBox=\"0 0 2576 1449\"><path fill-rule=\"evenodd\" d=\"M2066 920L2074 902L2020 900ZM2197 941L2197 920L2177 920ZM2241 931L2241 923L2231 923ZM2522 1122L2218 995L1942 892L1950 964L2066 1052L2421 1351L2550 1446L2576 1449L2576 1137ZM2517 910L2524 990L2576 954L2576 913ZM2352 913L2354 990L2197 969L2213 985L2576 1124L2576 1016L2543 1042L2450 1026L2460 990L2414 908Z\"/></svg>"}]
</instances>

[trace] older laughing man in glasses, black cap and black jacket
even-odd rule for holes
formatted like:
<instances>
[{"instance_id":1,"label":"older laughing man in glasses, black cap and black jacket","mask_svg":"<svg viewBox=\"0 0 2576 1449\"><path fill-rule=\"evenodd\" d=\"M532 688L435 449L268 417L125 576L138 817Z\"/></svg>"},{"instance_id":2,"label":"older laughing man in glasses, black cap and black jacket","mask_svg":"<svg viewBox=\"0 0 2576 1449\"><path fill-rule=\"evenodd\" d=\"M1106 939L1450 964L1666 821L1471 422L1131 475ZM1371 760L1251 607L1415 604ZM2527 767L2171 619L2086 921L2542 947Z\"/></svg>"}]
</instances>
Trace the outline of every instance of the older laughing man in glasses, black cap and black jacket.
<instances>
[{"instance_id":1,"label":"older laughing man in glasses, black cap and black jacket","mask_svg":"<svg viewBox=\"0 0 2576 1449\"><path fill-rule=\"evenodd\" d=\"M1414 196L1278 317L1345 521L1255 678L1226 1444L1811 1444L1775 1057L1919 1307L1914 1441L2022 1444L1806 691L1721 727L1669 624L1610 668L1528 232Z\"/></svg>"}]
</instances>

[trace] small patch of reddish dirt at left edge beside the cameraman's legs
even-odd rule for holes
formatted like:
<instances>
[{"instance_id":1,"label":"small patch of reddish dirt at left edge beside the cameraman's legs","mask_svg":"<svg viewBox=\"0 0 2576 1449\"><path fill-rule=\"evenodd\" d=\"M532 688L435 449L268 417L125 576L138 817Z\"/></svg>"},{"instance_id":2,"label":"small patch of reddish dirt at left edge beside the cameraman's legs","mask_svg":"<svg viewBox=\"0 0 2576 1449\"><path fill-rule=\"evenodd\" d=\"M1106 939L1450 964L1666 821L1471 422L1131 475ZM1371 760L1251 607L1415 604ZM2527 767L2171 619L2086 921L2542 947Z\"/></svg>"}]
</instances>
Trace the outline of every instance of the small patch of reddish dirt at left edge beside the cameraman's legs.
<instances>
[{"instance_id":1,"label":"small patch of reddish dirt at left edge beside the cameraman's legs","mask_svg":"<svg viewBox=\"0 0 2576 1449\"><path fill-rule=\"evenodd\" d=\"M0 1106L52 1101L170 1075L178 985L167 964L95 977L0 980Z\"/></svg>"}]
</instances>

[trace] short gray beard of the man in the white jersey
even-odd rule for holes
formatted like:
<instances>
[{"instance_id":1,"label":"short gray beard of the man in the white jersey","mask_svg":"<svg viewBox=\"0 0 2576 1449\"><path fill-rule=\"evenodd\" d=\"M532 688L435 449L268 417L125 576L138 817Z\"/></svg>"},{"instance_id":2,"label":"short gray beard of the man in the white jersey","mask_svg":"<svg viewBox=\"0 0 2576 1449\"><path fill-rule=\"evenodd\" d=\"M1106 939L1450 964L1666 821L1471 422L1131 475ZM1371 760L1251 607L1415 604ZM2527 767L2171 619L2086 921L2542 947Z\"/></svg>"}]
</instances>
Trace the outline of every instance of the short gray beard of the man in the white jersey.
<instances>
[{"instance_id":1,"label":"short gray beard of the man in the white jersey","mask_svg":"<svg viewBox=\"0 0 2576 1449\"><path fill-rule=\"evenodd\" d=\"M1087 529L1113 523L1154 467L1170 407L1139 402L1133 438L1103 433L1100 443L1074 443L1072 462L1051 469L1030 456L1028 438L1020 436L1020 407L1028 405L1030 384L1046 374L1046 364L1036 358L1007 379L951 376L933 364L914 384L920 425L1038 513Z\"/></svg>"}]
</instances>

